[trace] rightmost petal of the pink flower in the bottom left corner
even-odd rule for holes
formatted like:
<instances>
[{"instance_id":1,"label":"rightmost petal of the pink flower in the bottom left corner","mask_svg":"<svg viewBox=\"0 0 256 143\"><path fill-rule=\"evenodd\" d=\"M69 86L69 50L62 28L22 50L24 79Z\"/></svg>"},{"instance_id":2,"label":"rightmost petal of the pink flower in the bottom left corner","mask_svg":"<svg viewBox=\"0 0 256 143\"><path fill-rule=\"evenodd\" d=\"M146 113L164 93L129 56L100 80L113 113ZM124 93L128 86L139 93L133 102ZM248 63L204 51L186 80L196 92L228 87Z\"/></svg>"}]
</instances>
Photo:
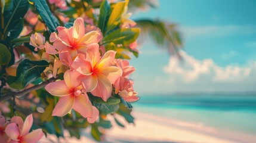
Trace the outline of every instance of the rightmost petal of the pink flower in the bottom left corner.
<instances>
[{"instance_id":1,"label":"rightmost petal of the pink flower in the bottom left corner","mask_svg":"<svg viewBox=\"0 0 256 143\"><path fill-rule=\"evenodd\" d=\"M42 129L36 129L30 132L29 134L23 136L23 141L36 143L42 138L42 136L44 136Z\"/></svg>"}]
</instances>

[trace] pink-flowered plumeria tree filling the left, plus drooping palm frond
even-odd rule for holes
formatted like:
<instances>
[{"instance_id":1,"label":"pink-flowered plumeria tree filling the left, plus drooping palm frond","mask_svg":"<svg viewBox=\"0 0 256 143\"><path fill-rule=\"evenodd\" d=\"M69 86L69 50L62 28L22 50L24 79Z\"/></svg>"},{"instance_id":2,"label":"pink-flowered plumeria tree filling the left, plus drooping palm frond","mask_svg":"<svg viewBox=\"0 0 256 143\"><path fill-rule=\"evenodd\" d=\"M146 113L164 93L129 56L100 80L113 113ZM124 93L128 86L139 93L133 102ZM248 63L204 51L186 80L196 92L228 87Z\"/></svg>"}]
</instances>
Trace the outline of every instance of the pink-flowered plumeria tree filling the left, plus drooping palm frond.
<instances>
[{"instance_id":1,"label":"pink-flowered plumeria tree filling the left, plus drooping palm frond","mask_svg":"<svg viewBox=\"0 0 256 143\"><path fill-rule=\"evenodd\" d=\"M128 60L138 57L138 36L151 35L171 53L181 45L173 24L129 19L129 8L155 4L1 1L0 142L37 142L64 130L80 138L88 127L100 141L110 117L121 127L120 117L134 123L131 102L139 98Z\"/></svg>"}]
</instances>

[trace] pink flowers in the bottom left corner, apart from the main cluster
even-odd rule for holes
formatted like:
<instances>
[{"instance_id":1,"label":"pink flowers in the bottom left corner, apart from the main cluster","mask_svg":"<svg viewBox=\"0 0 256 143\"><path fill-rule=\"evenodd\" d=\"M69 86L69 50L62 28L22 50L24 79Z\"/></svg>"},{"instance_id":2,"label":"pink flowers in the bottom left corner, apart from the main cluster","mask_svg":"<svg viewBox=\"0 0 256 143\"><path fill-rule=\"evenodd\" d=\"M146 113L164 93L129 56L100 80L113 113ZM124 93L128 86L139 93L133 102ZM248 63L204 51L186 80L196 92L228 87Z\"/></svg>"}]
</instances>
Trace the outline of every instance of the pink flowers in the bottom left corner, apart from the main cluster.
<instances>
[{"instance_id":1,"label":"pink flowers in the bottom left corner, apart from the main cluster","mask_svg":"<svg viewBox=\"0 0 256 143\"><path fill-rule=\"evenodd\" d=\"M14 116L10 121L5 120L5 117L0 113L0 142L38 142L44 133L42 129L36 129L29 132L33 124L33 116L30 114L25 121L19 116Z\"/></svg>"}]
</instances>

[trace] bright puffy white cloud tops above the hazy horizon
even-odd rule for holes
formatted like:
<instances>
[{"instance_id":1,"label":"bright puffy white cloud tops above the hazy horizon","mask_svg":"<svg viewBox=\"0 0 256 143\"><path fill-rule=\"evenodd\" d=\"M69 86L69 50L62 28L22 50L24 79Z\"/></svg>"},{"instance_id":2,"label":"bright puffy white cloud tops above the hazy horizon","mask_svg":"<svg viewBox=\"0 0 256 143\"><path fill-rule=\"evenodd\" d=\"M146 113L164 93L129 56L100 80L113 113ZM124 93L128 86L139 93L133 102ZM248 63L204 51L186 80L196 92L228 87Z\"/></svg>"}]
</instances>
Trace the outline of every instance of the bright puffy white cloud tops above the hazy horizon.
<instances>
[{"instance_id":1,"label":"bright puffy white cloud tops above the hazy horizon","mask_svg":"<svg viewBox=\"0 0 256 143\"><path fill-rule=\"evenodd\" d=\"M183 63L176 57L169 59L164 71L171 76L180 76L184 82L196 82L202 77L208 77L208 82L236 82L246 79L251 73L251 67L226 66L220 67L212 59L196 60L194 57L181 51ZM250 66L256 66L252 63Z\"/></svg>"}]
</instances>

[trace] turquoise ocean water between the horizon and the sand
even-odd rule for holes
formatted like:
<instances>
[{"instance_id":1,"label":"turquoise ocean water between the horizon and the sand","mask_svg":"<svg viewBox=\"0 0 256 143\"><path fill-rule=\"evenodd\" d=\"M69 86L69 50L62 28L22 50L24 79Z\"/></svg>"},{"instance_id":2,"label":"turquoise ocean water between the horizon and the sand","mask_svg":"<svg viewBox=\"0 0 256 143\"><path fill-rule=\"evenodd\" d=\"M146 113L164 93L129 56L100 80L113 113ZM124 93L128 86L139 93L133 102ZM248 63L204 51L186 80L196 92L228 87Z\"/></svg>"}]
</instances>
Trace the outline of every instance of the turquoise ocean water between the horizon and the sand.
<instances>
[{"instance_id":1,"label":"turquoise ocean water between the horizon and the sand","mask_svg":"<svg viewBox=\"0 0 256 143\"><path fill-rule=\"evenodd\" d=\"M256 95L142 95L134 110L217 129L225 138L256 136ZM245 141L246 142L246 141Z\"/></svg>"}]
</instances>

